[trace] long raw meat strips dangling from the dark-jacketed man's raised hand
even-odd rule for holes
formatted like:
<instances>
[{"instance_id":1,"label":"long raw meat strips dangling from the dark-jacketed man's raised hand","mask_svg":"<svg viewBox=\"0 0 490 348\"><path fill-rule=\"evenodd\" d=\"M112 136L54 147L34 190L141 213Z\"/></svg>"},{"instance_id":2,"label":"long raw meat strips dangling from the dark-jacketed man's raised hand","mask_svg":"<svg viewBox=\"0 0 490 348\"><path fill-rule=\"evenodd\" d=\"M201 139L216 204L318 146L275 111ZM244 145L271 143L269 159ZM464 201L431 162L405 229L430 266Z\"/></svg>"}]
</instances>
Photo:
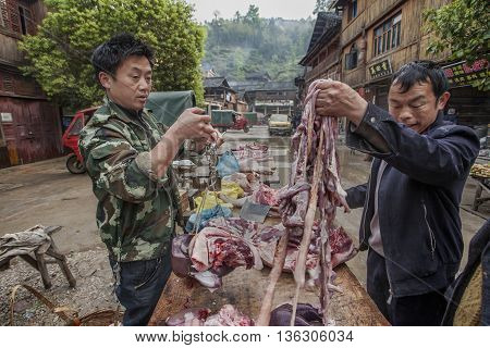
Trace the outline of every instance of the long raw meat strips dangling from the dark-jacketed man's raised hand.
<instances>
[{"instance_id":1,"label":"long raw meat strips dangling from the dark-jacketed man's raised hand","mask_svg":"<svg viewBox=\"0 0 490 348\"><path fill-rule=\"evenodd\" d=\"M319 251L320 275L320 302L322 304L323 324L328 324L329 289L333 288L332 282L332 254L330 235L334 234L333 221L336 207L344 207L348 211L345 201L345 191L342 189L339 176L339 160L335 152L338 137L338 119L321 117L315 112L315 102L320 91L314 82L305 98L302 122L293 136L292 144L294 158L290 184L287 189L280 192L280 208L283 214L283 224L290 237L302 237L296 263L294 264L294 278L296 281L296 294L293 300L292 324L296 313L297 299L301 288L305 286L305 273L311 266L311 240L316 241L314 225L317 209L320 212L319 239L315 243L314 250ZM340 243L342 246L348 243ZM287 248L287 246L283 246ZM281 251L279 251L281 253ZM287 258L287 252L284 256ZM270 312L262 307L261 314ZM266 306L266 304L264 304ZM259 318L259 324L264 324L266 316Z\"/></svg>"}]
</instances>

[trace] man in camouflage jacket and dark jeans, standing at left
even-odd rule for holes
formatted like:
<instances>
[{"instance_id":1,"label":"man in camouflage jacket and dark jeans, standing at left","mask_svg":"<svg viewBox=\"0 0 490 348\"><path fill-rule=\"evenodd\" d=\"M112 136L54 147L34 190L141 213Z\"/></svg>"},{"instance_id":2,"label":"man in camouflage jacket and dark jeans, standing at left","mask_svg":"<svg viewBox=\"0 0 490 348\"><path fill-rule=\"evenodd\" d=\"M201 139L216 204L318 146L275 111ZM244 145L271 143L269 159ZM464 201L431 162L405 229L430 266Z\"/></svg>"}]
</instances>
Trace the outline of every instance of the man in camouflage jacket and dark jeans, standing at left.
<instances>
[{"instance_id":1,"label":"man in camouflage jacket and dark jeans, standing at left","mask_svg":"<svg viewBox=\"0 0 490 348\"><path fill-rule=\"evenodd\" d=\"M122 34L93 53L105 103L79 136L93 179L97 225L108 247L124 325L146 325L171 274L170 245L179 195L171 163L185 139L220 141L201 110L186 110L170 128L145 102L151 88L152 52Z\"/></svg>"}]
</instances>

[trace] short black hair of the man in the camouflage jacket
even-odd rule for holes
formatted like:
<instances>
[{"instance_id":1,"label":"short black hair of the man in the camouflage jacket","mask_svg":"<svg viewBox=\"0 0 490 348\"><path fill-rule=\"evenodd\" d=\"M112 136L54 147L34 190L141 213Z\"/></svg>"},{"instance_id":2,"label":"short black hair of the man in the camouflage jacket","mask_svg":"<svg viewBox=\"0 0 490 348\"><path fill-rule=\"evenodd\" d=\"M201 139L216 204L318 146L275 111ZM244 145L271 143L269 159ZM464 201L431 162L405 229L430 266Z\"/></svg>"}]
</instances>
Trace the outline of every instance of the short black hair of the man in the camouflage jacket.
<instances>
[{"instance_id":1,"label":"short black hair of the man in the camouflage jacket","mask_svg":"<svg viewBox=\"0 0 490 348\"><path fill-rule=\"evenodd\" d=\"M146 57L151 67L154 66L154 51L151 48L131 34L118 34L98 46L91 53L90 59L96 80L100 84L100 72L108 73L114 77L118 67L130 55Z\"/></svg>"}]
</instances>

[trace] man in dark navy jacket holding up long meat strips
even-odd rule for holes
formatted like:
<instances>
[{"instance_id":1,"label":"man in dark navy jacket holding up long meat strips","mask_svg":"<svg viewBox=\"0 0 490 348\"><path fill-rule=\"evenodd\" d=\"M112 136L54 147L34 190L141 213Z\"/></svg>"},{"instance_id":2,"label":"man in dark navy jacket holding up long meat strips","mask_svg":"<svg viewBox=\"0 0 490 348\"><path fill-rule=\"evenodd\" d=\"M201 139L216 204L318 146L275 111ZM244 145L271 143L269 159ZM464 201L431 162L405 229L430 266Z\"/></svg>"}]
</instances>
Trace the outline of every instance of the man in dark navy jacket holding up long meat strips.
<instances>
[{"instance_id":1,"label":"man in dark navy jacket holding up long meat strips","mask_svg":"<svg viewBox=\"0 0 490 348\"><path fill-rule=\"evenodd\" d=\"M393 75L389 112L340 82L319 88L317 113L347 117L347 146L375 158L368 183L347 190L350 207L364 207L370 297L393 325L439 325L463 253L458 210L476 134L442 120L448 79L432 62Z\"/></svg>"}]
</instances>

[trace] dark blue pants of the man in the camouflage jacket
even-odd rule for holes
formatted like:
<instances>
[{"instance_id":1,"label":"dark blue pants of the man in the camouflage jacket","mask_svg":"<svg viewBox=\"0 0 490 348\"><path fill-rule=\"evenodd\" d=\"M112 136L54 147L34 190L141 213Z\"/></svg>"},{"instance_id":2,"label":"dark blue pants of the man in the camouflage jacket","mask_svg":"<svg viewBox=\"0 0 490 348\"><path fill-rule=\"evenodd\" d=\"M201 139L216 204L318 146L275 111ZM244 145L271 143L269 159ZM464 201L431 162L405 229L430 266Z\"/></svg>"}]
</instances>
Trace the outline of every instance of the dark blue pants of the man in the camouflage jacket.
<instances>
[{"instance_id":1,"label":"dark blue pants of the man in the camouflage jacket","mask_svg":"<svg viewBox=\"0 0 490 348\"><path fill-rule=\"evenodd\" d=\"M112 270L115 262L109 260ZM124 326L147 325L172 273L170 253L154 260L121 262L121 284L115 296L126 309Z\"/></svg>"}]
</instances>

